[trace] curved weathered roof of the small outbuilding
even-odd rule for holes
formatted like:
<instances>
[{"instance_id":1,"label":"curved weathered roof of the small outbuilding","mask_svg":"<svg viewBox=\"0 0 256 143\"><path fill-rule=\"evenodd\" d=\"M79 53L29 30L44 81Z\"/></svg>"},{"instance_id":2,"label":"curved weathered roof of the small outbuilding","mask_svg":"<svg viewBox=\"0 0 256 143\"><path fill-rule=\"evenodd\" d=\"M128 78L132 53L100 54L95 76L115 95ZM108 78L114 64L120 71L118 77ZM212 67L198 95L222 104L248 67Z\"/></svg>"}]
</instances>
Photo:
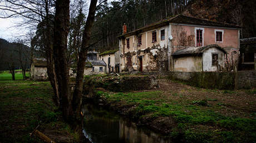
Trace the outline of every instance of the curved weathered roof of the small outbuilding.
<instances>
[{"instance_id":1,"label":"curved weathered roof of the small outbuilding","mask_svg":"<svg viewBox=\"0 0 256 143\"><path fill-rule=\"evenodd\" d=\"M189 48L176 50L176 52L174 52L171 55L198 55L198 54L204 53L205 50L207 50L209 48L218 48L219 50L221 50L222 52L227 54L227 52L225 52L225 50L223 48L221 48L219 45L212 44L212 45L206 45L203 47L189 47Z\"/></svg>"}]
</instances>

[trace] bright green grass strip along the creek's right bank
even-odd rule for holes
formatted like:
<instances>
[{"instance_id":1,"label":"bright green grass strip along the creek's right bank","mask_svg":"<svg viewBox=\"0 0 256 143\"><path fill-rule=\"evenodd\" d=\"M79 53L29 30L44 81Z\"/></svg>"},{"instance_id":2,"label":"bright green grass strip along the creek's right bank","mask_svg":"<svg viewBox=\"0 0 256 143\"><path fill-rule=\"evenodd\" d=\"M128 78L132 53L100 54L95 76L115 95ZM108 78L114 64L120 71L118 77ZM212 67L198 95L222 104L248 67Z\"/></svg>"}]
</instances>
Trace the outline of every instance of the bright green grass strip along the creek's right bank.
<instances>
[{"instance_id":1,"label":"bright green grass strip along the creek's right bank","mask_svg":"<svg viewBox=\"0 0 256 143\"><path fill-rule=\"evenodd\" d=\"M132 106L129 115L134 120L145 119L145 116L173 119L175 125L170 135L184 135L188 142L252 142L256 137L255 119L215 112L207 102L216 99L195 100L185 104L166 99L161 91L115 94L98 91L97 96L105 96L107 102L124 108Z\"/></svg>"}]
</instances>

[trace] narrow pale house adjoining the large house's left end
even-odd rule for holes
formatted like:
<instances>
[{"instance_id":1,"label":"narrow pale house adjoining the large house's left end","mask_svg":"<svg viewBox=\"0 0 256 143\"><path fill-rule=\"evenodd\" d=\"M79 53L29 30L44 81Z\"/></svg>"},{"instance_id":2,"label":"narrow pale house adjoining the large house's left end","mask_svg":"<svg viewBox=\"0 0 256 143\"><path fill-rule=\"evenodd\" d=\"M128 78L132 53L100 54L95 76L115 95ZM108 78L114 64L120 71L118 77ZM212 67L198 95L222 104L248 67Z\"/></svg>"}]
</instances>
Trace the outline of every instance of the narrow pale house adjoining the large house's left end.
<instances>
[{"instance_id":1,"label":"narrow pale house adjoining the large house's left end","mask_svg":"<svg viewBox=\"0 0 256 143\"><path fill-rule=\"evenodd\" d=\"M119 73L120 72L120 51L119 49L107 50L100 53L100 59L104 60L107 64L107 73Z\"/></svg>"}]
</instances>

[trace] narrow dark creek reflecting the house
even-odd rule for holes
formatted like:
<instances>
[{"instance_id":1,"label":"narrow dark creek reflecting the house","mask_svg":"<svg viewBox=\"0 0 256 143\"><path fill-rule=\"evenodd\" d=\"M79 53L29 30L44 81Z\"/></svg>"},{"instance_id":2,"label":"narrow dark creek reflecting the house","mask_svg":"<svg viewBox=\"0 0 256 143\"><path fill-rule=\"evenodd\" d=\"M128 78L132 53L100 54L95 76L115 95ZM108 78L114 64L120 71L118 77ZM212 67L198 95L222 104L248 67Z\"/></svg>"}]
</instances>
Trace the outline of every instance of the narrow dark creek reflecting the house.
<instances>
[{"instance_id":1,"label":"narrow dark creek reflecting the house","mask_svg":"<svg viewBox=\"0 0 256 143\"><path fill-rule=\"evenodd\" d=\"M171 142L169 138L166 139L149 129L137 127L134 122L95 105L86 104L82 110L85 115L83 134L91 142Z\"/></svg>"}]
</instances>

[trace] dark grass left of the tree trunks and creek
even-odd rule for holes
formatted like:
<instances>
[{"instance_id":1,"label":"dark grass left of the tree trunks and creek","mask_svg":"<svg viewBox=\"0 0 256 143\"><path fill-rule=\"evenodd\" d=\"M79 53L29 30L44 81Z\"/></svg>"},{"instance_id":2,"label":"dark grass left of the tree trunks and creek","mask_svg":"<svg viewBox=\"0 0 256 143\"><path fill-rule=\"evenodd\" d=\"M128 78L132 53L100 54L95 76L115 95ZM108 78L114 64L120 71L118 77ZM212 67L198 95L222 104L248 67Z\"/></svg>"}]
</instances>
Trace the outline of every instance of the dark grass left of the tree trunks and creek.
<instances>
[{"instance_id":1,"label":"dark grass left of the tree trunks and creek","mask_svg":"<svg viewBox=\"0 0 256 143\"><path fill-rule=\"evenodd\" d=\"M29 136L37 125L52 140L74 141L55 111L49 82L0 80L0 91L0 142L41 142Z\"/></svg>"}]
</instances>

